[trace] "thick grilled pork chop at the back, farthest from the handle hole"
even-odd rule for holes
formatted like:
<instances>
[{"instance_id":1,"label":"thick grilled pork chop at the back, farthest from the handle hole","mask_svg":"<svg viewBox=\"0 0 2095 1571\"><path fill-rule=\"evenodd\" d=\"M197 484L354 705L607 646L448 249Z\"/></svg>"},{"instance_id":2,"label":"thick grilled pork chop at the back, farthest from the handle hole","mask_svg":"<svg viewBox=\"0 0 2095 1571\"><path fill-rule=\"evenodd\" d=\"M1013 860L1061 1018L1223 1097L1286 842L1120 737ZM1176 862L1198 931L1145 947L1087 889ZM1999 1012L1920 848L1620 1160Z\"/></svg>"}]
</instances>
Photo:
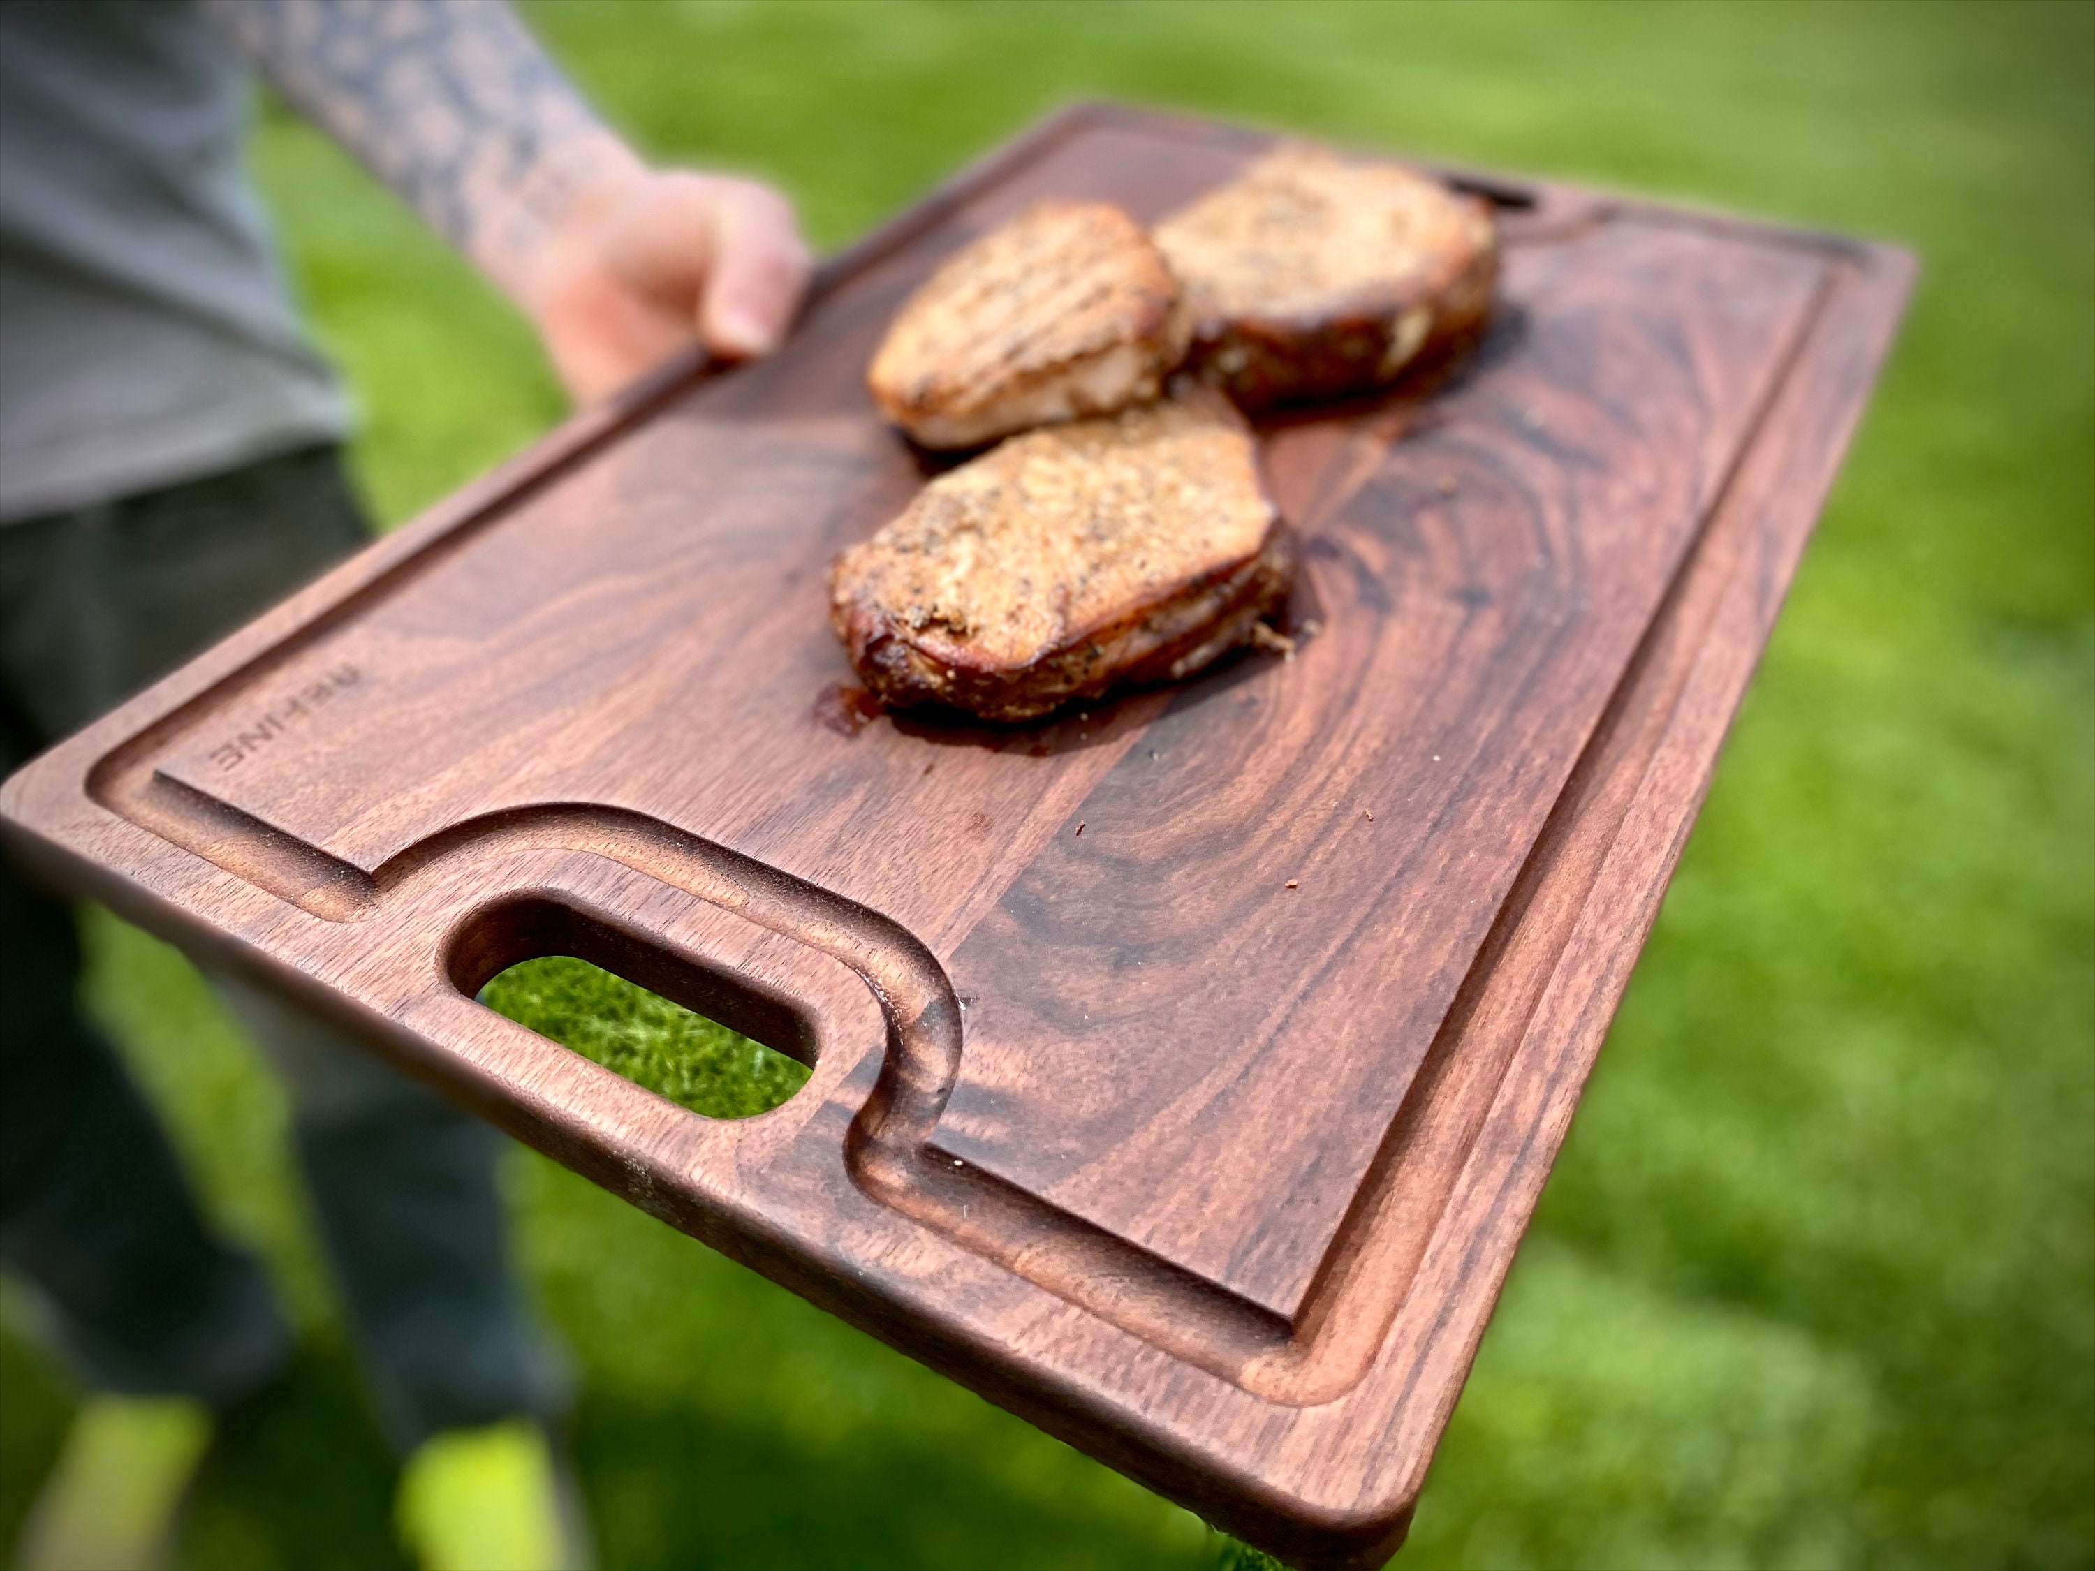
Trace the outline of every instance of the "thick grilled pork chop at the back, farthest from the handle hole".
<instances>
[{"instance_id":1,"label":"thick grilled pork chop at the back, farthest from the handle hole","mask_svg":"<svg viewBox=\"0 0 2095 1571\"><path fill-rule=\"evenodd\" d=\"M1257 411L1395 381L1492 314L1477 197L1393 163L1284 145L1154 230L1194 320L1190 367Z\"/></svg>"}]
</instances>

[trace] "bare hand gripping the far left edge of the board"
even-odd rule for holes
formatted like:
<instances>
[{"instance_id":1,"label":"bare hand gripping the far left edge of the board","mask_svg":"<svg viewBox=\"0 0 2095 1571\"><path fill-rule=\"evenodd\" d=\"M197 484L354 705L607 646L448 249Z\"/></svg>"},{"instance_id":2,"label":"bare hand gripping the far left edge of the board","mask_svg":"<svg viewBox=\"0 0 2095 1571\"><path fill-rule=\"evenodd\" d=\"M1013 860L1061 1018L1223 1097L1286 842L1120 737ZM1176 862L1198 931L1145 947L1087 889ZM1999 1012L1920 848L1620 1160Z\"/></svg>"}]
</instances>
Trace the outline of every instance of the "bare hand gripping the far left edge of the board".
<instances>
[{"instance_id":1,"label":"bare hand gripping the far left edge of the board","mask_svg":"<svg viewBox=\"0 0 2095 1571\"><path fill-rule=\"evenodd\" d=\"M576 402L691 344L746 360L792 327L811 253L792 203L756 180L633 170L574 203L517 297Z\"/></svg>"}]
</instances>

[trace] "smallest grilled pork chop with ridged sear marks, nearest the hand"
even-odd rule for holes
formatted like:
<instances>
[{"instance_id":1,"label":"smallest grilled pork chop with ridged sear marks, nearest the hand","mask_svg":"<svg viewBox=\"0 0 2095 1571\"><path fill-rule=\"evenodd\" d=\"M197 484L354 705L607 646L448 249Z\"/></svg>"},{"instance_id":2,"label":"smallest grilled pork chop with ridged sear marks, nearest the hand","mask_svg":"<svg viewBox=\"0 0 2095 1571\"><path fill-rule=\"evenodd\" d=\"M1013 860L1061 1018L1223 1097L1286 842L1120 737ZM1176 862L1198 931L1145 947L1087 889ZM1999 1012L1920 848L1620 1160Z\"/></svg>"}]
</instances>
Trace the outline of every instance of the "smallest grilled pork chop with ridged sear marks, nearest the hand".
<instances>
[{"instance_id":1,"label":"smallest grilled pork chop with ridged sear marks, nearest the hand","mask_svg":"<svg viewBox=\"0 0 2095 1571\"><path fill-rule=\"evenodd\" d=\"M1177 281L1133 218L1043 201L909 297L867 385L924 446L966 448L1156 398L1186 335Z\"/></svg>"}]
</instances>

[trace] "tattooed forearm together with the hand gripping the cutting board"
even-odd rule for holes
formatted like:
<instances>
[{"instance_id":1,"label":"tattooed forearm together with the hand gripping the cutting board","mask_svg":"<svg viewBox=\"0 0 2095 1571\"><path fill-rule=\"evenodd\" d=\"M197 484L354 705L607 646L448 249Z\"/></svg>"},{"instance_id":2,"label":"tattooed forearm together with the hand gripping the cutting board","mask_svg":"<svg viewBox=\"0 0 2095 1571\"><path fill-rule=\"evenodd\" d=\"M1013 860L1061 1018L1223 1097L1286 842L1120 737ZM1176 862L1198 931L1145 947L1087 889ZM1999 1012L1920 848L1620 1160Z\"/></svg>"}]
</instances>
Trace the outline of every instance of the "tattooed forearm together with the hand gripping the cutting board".
<instances>
[{"instance_id":1,"label":"tattooed forearm together with the hand gripping the cutting board","mask_svg":"<svg viewBox=\"0 0 2095 1571\"><path fill-rule=\"evenodd\" d=\"M538 325L576 400L679 350L769 354L809 253L792 205L649 170L507 4L203 0L212 27Z\"/></svg>"}]
</instances>

